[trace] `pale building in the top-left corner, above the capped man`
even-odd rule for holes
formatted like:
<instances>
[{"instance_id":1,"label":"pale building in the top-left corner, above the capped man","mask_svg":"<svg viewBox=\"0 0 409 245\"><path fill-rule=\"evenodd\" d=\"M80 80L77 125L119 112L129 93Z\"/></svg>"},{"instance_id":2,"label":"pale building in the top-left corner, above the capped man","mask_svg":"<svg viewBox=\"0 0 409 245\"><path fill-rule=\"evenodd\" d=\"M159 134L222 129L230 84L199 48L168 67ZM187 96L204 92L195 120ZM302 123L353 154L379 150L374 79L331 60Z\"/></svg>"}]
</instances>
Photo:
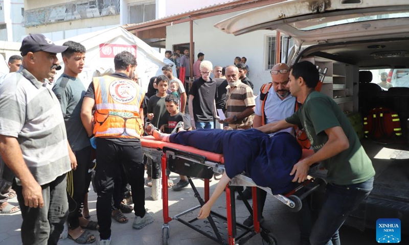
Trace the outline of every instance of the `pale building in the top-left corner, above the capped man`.
<instances>
[{"instance_id":1,"label":"pale building in the top-left corner, above the capped man","mask_svg":"<svg viewBox=\"0 0 409 245\"><path fill-rule=\"evenodd\" d=\"M0 1L0 40L19 42L25 35L21 26L24 16L23 0Z\"/></svg>"}]
</instances>

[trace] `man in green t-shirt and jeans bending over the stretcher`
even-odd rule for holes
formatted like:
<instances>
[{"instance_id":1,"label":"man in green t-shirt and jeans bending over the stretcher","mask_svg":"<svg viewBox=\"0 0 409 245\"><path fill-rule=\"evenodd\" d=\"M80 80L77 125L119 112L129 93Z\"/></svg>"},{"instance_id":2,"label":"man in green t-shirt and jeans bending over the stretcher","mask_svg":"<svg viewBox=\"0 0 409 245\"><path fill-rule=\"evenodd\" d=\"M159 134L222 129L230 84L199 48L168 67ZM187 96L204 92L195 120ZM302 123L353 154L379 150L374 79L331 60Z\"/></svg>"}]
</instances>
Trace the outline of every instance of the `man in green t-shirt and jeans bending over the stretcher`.
<instances>
[{"instance_id":1,"label":"man in green t-shirt and jeans bending over the stretcher","mask_svg":"<svg viewBox=\"0 0 409 245\"><path fill-rule=\"evenodd\" d=\"M314 90L319 81L315 65L294 64L287 86L302 104L284 120L258 128L265 133L293 127L304 128L314 154L294 165L293 182L306 180L310 166L323 162L328 169L327 199L312 227L311 244L340 244L339 228L372 190L375 170L347 116L327 95Z\"/></svg>"}]
</instances>

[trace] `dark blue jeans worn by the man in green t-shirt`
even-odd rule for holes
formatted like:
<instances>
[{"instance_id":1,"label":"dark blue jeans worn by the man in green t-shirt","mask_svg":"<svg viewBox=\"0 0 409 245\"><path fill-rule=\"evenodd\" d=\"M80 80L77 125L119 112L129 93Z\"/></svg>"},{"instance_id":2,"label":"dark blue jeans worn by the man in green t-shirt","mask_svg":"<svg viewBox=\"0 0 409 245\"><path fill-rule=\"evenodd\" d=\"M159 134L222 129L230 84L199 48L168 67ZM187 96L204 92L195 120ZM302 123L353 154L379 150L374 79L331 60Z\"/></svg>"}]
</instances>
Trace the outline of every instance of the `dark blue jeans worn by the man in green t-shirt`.
<instances>
[{"instance_id":1,"label":"dark blue jeans worn by the man in green t-shirt","mask_svg":"<svg viewBox=\"0 0 409 245\"><path fill-rule=\"evenodd\" d=\"M368 197L374 177L353 185L327 185L327 199L312 227L311 245L340 245L339 228L359 203Z\"/></svg>"}]
</instances>

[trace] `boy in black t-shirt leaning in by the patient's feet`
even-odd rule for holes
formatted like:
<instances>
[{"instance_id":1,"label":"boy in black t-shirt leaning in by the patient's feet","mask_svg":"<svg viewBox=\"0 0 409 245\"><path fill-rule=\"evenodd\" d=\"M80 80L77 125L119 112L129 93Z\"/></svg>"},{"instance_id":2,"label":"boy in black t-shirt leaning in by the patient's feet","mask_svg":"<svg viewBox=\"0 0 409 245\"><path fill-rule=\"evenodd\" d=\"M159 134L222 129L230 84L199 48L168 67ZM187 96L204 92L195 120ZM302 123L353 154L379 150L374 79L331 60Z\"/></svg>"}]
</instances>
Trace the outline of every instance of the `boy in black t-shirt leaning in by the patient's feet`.
<instances>
[{"instance_id":1,"label":"boy in black t-shirt leaning in by the patient's feet","mask_svg":"<svg viewBox=\"0 0 409 245\"><path fill-rule=\"evenodd\" d=\"M192 130L189 119L185 114L181 113L177 108L179 106L179 100L173 94L169 94L165 98L166 109L168 110L167 118L168 124L161 126L161 131L166 133L176 133L179 129L183 128L186 131ZM181 124L183 122L183 124ZM180 127L179 127L180 126ZM180 180L176 185L172 187L173 190L178 191L189 185L188 177L179 175Z\"/></svg>"}]
</instances>

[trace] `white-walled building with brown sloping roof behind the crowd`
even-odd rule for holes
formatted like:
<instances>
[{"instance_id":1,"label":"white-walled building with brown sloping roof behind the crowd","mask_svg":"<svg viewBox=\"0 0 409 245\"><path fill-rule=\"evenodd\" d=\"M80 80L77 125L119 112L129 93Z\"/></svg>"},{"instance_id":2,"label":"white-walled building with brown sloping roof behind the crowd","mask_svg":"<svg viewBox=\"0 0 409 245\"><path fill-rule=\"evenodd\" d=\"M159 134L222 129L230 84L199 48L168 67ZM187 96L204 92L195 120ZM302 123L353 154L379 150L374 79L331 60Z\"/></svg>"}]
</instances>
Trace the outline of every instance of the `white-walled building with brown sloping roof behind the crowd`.
<instances>
[{"instance_id":1,"label":"white-walled building with brown sloping roof behind the crowd","mask_svg":"<svg viewBox=\"0 0 409 245\"><path fill-rule=\"evenodd\" d=\"M280 36L280 46L276 45L276 31L261 30L234 36L225 34L214 27L217 22L254 8L283 2L280 0L206 0L183 1L163 0L156 6L157 12L164 17L156 20L129 24L127 30L151 46L165 50L180 50L184 47L191 50L193 63L201 52L213 65L231 65L236 56L246 57L249 67L249 79L258 93L264 83L271 82L269 70L276 60L279 50L280 61L285 61L287 46L291 40Z\"/></svg>"}]
</instances>

